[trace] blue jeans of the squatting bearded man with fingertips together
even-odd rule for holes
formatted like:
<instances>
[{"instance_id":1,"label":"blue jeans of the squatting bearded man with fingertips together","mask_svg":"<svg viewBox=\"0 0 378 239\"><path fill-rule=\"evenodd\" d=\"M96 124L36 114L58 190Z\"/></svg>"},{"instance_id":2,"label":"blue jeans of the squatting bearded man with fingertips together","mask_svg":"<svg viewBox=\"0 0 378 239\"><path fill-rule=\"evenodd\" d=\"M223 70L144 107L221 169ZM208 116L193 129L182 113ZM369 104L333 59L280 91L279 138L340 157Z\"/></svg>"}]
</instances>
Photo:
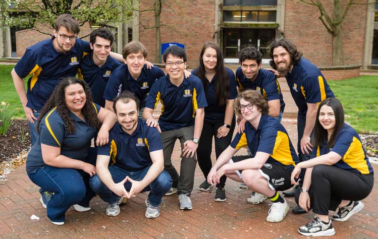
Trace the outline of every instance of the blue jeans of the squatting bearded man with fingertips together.
<instances>
[{"instance_id":1,"label":"blue jeans of the squatting bearded man with fingertips together","mask_svg":"<svg viewBox=\"0 0 378 239\"><path fill-rule=\"evenodd\" d=\"M150 166L139 171L126 171L117 165L110 165L108 167L113 181L116 184L124 180L126 176L129 176L135 181L142 181L149 168ZM101 182L97 174L90 179L89 184L93 192L95 192L103 201L107 203L115 203L120 200L120 196L116 195L109 188L107 188ZM124 186L129 192L131 189L131 183L127 181ZM148 194L148 201L152 204L152 206L158 206L161 203L161 198L163 198L163 196L170 190L171 186L172 178L168 172L163 170L149 186L142 190L142 192L150 191Z\"/></svg>"}]
</instances>

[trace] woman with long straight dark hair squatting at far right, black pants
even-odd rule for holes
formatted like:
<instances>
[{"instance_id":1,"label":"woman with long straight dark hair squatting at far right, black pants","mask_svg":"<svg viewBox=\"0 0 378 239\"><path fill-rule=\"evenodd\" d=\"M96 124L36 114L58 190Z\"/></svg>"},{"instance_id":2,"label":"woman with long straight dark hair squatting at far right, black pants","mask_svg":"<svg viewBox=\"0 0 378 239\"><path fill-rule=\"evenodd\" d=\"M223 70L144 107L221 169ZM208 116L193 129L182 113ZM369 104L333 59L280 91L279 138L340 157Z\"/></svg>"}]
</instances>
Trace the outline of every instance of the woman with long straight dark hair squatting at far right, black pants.
<instances>
[{"instance_id":1,"label":"woman with long straight dark hair squatting at far right, black pants","mask_svg":"<svg viewBox=\"0 0 378 239\"><path fill-rule=\"evenodd\" d=\"M312 209L315 218L299 227L306 236L333 235L328 217L346 221L363 208L358 201L366 198L373 187L373 169L357 132L344 123L344 109L336 98L323 100L317 110L314 148L308 161L300 162L291 174L293 184L302 168L307 168L303 186L296 195L298 205Z\"/></svg>"}]
</instances>

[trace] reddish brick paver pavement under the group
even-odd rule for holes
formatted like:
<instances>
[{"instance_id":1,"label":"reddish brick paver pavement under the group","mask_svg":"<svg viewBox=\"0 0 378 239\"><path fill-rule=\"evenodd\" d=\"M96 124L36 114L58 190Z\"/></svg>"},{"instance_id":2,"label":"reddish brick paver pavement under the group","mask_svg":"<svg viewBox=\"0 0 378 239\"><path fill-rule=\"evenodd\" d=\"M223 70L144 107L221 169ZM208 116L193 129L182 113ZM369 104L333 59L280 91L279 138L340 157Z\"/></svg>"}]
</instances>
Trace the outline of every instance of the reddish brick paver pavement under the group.
<instances>
[{"instance_id":1,"label":"reddish brick paver pavement under the group","mask_svg":"<svg viewBox=\"0 0 378 239\"><path fill-rule=\"evenodd\" d=\"M293 105L286 83L281 81L286 102L283 125L294 144L296 135L296 106ZM286 86L286 88L285 88ZM292 118L288 118L292 117ZM241 150L241 154L245 150ZM174 165L180 167L180 149L177 142L173 153ZM212 156L214 158L214 154ZM373 165L378 171L378 165ZM144 200L147 194L139 194L121 207L120 215L105 215L106 203L95 197L92 210L66 213L62 226L51 224L46 209L39 202L38 187L26 175L21 166L7 176L8 181L0 183L0 236L3 238L299 238L303 237L297 228L313 218L313 214L294 215L291 211L279 223L265 221L269 204L247 204L249 190L240 189L239 183L228 180L226 202L215 202L214 192L200 192L198 186L204 180L197 166L194 190L191 196L193 210L181 211L174 194L164 197L158 218L144 216ZM372 193L363 200L363 210L346 222L335 221L336 235L333 238L378 238L378 178ZM292 198L286 198L291 209ZM30 219L31 215L40 217Z\"/></svg>"}]
</instances>

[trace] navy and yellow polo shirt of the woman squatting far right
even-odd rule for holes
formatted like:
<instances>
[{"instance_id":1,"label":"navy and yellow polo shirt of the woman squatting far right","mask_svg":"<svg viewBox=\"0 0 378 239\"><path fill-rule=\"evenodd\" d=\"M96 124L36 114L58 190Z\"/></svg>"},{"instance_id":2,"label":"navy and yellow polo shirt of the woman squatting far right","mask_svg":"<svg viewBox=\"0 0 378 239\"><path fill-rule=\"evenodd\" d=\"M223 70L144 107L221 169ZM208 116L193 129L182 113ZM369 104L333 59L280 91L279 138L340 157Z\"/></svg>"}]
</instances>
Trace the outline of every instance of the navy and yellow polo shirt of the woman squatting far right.
<instances>
[{"instance_id":1,"label":"navy and yellow polo shirt of the woman squatting far right","mask_svg":"<svg viewBox=\"0 0 378 239\"><path fill-rule=\"evenodd\" d=\"M334 147L327 148L327 140L323 142L323 146L317 146L316 150L312 150L311 158L328 154L333 151L342 158L334 165L353 172L361 174L373 173L373 168L366 156L365 148L362 146L361 139L357 132L347 124L344 124L336 137Z\"/></svg>"}]
</instances>

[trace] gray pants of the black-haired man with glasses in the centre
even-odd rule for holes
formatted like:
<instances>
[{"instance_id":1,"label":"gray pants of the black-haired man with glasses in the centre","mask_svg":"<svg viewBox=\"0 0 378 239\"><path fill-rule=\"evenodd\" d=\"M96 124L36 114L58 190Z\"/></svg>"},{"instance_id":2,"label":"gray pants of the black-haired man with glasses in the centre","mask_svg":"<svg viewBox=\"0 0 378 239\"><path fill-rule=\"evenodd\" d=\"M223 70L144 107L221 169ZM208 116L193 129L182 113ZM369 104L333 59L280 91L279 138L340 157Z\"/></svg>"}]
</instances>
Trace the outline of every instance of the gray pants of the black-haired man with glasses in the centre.
<instances>
[{"instance_id":1,"label":"gray pants of the black-haired man with glasses in the centre","mask_svg":"<svg viewBox=\"0 0 378 239\"><path fill-rule=\"evenodd\" d=\"M176 168L172 164L171 156L175 142L180 140L181 151L184 149L184 143L187 140L193 140L194 126L184 127L178 130L170 130L161 132L161 144L163 145L164 153L164 169L172 177L172 187L177 188L178 194L188 194L193 190L194 185L194 171L197 164L196 155L193 158L187 158L180 154L181 168L180 176Z\"/></svg>"}]
</instances>

